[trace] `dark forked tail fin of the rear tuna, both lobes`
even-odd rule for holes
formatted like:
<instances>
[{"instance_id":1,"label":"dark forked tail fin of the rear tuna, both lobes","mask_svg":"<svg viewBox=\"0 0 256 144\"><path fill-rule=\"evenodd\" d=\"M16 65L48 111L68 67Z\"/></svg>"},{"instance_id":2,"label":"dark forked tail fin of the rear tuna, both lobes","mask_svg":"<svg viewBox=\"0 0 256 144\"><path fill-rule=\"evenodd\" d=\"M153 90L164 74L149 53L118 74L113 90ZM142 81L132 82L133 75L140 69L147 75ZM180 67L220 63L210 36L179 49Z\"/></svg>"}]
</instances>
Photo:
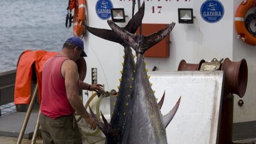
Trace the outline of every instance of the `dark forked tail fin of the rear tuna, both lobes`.
<instances>
[{"instance_id":1,"label":"dark forked tail fin of the rear tuna, both lobes","mask_svg":"<svg viewBox=\"0 0 256 144\"><path fill-rule=\"evenodd\" d=\"M123 29L125 29L126 31L128 31L130 33L135 33L137 31L137 28L142 23L142 19L144 17L144 11L145 11L145 2L143 2L139 11L134 15L134 17L132 19L130 19L128 24ZM96 35L97 37L100 37L100 38L103 38L105 40L109 40L112 42L117 42L121 45L125 44L123 39L120 38L119 36L117 36L113 30L92 28L89 26L85 26L85 27L90 33L92 33L93 35Z\"/></svg>"}]
</instances>

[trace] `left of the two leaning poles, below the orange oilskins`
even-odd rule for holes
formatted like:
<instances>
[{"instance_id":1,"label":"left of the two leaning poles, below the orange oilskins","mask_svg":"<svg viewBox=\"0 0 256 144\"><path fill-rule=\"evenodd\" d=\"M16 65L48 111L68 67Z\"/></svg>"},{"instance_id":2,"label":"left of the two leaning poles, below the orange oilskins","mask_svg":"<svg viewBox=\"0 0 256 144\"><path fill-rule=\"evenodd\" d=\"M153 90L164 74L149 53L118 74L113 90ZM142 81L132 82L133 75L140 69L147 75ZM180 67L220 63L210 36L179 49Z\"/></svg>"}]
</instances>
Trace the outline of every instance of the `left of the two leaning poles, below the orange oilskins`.
<instances>
[{"instance_id":1,"label":"left of the two leaning poles, below the orange oilskins","mask_svg":"<svg viewBox=\"0 0 256 144\"><path fill-rule=\"evenodd\" d=\"M36 83L36 87L35 87L35 89L34 89L32 99L31 99L30 104L29 104L29 106L28 106L28 110L27 110L27 113L26 113L26 117L25 117L24 122L23 122L23 125L22 125L22 127L21 127L21 132L19 133L19 138L18 138L17 144L21 144L21 141L22 141L24 132L25 132L26 127L27 127L27 124L28 124L29 116L30 116L31 111L32 111L32 108L33 108L33 104L34 104L34 102L35 102L35 100L36 100L37 91L38 91L38 83Z\"/></svg>"}]
</instances>

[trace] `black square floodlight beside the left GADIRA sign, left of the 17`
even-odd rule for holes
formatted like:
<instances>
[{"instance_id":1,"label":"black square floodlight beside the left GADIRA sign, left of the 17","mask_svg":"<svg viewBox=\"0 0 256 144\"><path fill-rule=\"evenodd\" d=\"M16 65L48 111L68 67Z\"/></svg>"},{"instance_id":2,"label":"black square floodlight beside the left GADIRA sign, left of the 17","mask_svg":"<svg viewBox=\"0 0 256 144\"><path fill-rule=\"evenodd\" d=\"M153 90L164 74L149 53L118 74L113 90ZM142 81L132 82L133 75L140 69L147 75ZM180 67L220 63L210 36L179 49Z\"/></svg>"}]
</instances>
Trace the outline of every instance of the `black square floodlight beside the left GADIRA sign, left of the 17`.
<instances>
[{"instance_id":1,"label":"black square floodlight beside the left GADIRA sign, left of the 17","mask_svg":"<svg viewBox=\"0 0 256 144\"><path fill-rule=\"evenodd\" d=\"M123 8L112 8L111 9L111 19L114 22L126 22L126 17L124 15Z\"/></svg>"}]
</instances>

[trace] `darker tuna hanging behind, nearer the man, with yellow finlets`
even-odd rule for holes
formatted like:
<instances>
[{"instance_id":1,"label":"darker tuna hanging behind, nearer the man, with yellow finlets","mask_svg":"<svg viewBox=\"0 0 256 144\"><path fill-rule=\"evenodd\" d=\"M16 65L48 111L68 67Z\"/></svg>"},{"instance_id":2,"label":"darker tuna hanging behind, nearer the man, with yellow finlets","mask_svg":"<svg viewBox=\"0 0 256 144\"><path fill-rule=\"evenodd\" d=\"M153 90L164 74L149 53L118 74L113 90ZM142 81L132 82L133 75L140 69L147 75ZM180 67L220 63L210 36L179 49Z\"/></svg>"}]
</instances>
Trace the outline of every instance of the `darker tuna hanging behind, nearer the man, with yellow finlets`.
<instances>
[{"instance_id":1,"label":"darker tuna hanging behind, nearer the man, with yellow finlets","mask_svg":"<svg viewBox=\"0 0 256 144\"><path fill-rule=\"evenodd\" d=\"M137 28L141 25L142 19L144 16L145 3L143 2L142 7L140 7L139 11L134 15L132 19L128 22L128 24L123 28L130 33L135 33ZM123 129L123 124L126 116L127 104L131 94L131 87L133 83L133 77L135 71L135 61L134 55L129 45L123 41L122 38L116 35L113 30L108 29L100 29L100 28L91 28L89 26L85 26L86 29L106 40L110 40L113 42L117 42L124 47L124 61L123 61L123 70L121 71L122 77L120 80L120 85L118 86L119 92L117 95L116 102L114 103L115 108L111 117L110 123L100 123L97 121L97 125L102 130L104 135L106 136L106 144L116 144L119 142L119 138L121 136L121 132Z\"/></svg>"}]
</instances>

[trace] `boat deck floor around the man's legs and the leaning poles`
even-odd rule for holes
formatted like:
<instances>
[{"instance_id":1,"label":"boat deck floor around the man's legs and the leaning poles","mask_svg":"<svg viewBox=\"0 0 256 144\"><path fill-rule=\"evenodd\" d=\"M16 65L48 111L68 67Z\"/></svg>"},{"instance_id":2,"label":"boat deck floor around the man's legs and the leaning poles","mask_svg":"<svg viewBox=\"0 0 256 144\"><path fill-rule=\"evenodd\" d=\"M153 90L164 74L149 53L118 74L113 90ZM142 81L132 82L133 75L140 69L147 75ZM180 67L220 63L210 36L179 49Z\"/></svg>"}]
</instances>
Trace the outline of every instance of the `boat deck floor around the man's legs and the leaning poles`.
<instances>
[{"instance_id":1,"label":"boat deck floor around the man's legs and the leaning poles","mask_svg":"<svg viewBox=\"0 0 256 144\"><path fill-rule=\"evenodd\" d=\"M16 112L14 104L10 104L10 106L1 106L2 116L0 116L0 144L16 144L19 133L21 130L21 126L24 122L24 118L26 116L25 112ZM31 138L33 136L33 131L36 124L36 119L38 116L39 108L33 108L31 111L31 115L28 120L28 124L26 126L26 130L24 132L23 139L21 144L31 144ZM78 122L78 126L84 132L94 132L88 128L88 125L82 120ZM103 137L102 132L98 132L93 136L84 136L82 137L83 144L104 144L105 137ZM36 140L36 144L43 144L43 139L38 137Z\"/></svg>"}]
</instances>

